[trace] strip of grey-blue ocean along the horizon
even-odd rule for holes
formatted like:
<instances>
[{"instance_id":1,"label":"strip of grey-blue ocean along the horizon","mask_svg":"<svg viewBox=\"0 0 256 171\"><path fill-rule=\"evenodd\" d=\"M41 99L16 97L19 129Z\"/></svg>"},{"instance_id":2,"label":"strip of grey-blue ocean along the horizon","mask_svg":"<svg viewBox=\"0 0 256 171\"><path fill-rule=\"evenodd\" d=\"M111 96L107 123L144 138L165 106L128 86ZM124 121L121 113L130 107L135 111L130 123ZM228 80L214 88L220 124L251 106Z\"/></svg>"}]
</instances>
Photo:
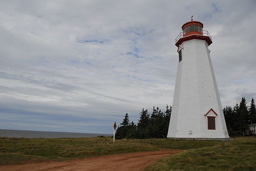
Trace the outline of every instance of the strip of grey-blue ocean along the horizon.
<instances>
[{"instance_id":1,"label":"strip of grey-blue ocean along the horizon","mask_svg":"<svg viewBox=\"0 0 256 171\"><path fill-rule=\"evenodd\" d=\"M9 138L90 138L97 136L112 136L111 134L66 133L47 131L2 130L0 137Z\"/></svg>"}]
</instances>

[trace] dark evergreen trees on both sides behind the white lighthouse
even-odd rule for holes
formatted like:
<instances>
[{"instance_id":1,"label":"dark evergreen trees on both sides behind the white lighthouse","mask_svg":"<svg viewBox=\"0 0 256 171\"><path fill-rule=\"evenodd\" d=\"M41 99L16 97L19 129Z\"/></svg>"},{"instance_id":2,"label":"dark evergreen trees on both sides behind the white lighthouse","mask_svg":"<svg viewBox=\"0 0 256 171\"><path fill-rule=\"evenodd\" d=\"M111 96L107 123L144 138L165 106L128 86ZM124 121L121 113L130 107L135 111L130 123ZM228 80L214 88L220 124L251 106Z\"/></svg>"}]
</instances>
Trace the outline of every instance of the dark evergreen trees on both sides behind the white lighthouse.
<instances>
[{"instance_id":1,"label":"dark evergreen trees on both sides behind the white lighthouse","mask_svg":"<svg viewBox=\"0 0 256 171\"><path fill-rule=\"evenodd\" d=\"M256 123L256 108L253 98L250 106L247 106L245 97L242 97L240 104L237 103L233 108L226 106L223 113L229 136L243 136L247 125ZM123 122L116 130L116 139L166 138L171 114L172 106L168 105L166 105L165 112L154 106L151 114L143 108L136 125L133 121L130 123L129 115L126 113Z\"/></svg>"}]
</instances>

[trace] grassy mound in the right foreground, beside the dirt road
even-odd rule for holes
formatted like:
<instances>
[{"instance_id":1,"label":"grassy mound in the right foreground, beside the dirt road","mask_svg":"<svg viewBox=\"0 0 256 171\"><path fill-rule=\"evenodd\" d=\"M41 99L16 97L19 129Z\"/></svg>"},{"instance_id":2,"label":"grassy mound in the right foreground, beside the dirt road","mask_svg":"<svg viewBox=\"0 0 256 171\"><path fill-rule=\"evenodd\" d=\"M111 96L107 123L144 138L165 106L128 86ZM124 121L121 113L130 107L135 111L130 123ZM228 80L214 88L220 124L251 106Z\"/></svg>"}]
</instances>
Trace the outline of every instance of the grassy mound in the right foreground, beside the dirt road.
<instances>
[{"instance_id":1,"label":"grassy mound in the right foreground, beside the dirt road","mask_svg":"<svg viewBox=\"0 0 256 171\"><path fill-rule=\"evenodd\" d=\"M256 170L256 138L235 138L188 149L158 160L145 170Z\"/></svg>"}]
</instances>

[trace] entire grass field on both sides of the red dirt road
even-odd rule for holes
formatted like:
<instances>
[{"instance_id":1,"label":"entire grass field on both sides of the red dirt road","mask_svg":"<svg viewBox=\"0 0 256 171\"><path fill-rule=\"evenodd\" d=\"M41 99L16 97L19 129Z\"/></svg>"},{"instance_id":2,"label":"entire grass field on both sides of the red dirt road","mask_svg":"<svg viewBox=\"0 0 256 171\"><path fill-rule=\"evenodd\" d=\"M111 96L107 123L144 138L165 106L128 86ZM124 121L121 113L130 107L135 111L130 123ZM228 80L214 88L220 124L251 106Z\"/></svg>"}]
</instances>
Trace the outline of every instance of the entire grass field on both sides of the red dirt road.
<instances>
[{"instance_id":1,"label":"entire grass field on both sides of the red dirt road","mask_svg":"<svg viewBox=\"0 0 256 171\"><path fill-rule=\"evenodd\" d=\"M0 138L0 164L63 161L118 153L186 149L160 159L146 170L256 170L256 138L234 141L116 140L97 138Z\"/></svg>"}]
</instances>

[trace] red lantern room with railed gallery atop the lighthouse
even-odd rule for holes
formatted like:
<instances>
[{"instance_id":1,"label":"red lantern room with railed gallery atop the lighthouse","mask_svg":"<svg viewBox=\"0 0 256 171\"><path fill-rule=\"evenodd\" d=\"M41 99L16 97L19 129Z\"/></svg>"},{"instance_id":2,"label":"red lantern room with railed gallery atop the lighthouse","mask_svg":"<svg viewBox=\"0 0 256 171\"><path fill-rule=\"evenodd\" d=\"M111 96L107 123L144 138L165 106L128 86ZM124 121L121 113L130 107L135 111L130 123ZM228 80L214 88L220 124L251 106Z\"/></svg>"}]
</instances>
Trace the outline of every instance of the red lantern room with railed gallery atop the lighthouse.
<instances>
[{"instance_id":1,"label":"red lantern room with railed gallery atop the lighthouse","mask_svg":"<svg viewBox=\"0 0 256 171\"><path fill-rule=\"evenodd\" d=\"M182 44L183 41L191 39L205 40L208 46L212 43L211 36L208 31L203 30L204 25L201 22L193 21L193 16L191 21L185 23L181 28L182 32L176 37L176 46Z\"/></svg>"}]
</instances>

